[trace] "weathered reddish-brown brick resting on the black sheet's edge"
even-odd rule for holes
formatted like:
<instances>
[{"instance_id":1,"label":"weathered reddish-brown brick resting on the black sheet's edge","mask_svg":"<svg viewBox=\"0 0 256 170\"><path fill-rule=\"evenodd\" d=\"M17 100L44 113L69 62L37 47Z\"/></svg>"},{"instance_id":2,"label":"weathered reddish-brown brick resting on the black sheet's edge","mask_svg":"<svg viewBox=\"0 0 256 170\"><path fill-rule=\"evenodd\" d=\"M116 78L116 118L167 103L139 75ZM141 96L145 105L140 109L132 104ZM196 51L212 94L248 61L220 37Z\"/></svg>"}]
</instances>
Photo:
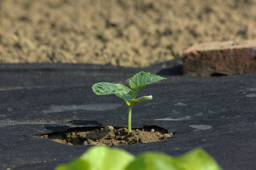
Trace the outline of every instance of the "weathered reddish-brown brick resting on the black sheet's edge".
<instances>
[{"instance_id":1,"label":"weathered reddish-brown brick resting on the black sheet's edge","mask_svg":"<svg viewBox=\"0 0 256 170\"><path fill-rule=\"evenodd\" d=\"M256 71L256 40L193 45L183 52L187 76L211 76Z\"/></svg>"}]
</instances>

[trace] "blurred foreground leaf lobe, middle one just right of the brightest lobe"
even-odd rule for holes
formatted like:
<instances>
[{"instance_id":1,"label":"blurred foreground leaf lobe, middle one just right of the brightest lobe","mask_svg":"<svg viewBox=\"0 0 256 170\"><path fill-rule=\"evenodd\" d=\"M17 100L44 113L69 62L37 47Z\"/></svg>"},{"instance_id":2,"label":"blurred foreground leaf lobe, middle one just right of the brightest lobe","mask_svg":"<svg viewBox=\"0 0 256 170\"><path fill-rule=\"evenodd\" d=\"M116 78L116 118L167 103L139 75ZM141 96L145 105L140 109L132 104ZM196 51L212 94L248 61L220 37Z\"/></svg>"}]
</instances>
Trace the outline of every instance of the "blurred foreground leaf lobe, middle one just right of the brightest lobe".
<instances>
[{"instance_id":1,"label":"blurred foreground leaf lobe, middle one just right of the brightest lobe","mask_svg":"<svg viewBox=\"0 0 256 170\"><path fill-rule=\"evenodd\" d=\"M144 152L138 155L126 170L176 170L172 158L160 152Z\"/></svg>"}]
</instances>

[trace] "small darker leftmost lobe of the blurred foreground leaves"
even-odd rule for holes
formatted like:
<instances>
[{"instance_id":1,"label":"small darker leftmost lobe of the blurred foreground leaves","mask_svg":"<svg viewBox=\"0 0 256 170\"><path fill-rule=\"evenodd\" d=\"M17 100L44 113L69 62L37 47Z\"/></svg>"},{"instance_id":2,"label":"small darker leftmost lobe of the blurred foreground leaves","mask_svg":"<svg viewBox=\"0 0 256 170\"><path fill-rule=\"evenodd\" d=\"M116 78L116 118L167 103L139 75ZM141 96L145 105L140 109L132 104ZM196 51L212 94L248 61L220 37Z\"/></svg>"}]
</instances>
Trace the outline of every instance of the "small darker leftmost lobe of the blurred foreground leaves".
<instances>
[{"instance_id":1,"label":"small darker leftmost lobe of the blurred foreground leaves","mask_svg":"<svg viewBox=\"0 0 256 170\"><path fill-rule=\"evenodd\" d=\"M80 158L73 160L72 162L67 164L60 164L55 168L55 170L81 170L81 169L89 170L90 168L89 168L89 163L86 162L86 160L82 160Z\"/></svg>"}]
</instances>

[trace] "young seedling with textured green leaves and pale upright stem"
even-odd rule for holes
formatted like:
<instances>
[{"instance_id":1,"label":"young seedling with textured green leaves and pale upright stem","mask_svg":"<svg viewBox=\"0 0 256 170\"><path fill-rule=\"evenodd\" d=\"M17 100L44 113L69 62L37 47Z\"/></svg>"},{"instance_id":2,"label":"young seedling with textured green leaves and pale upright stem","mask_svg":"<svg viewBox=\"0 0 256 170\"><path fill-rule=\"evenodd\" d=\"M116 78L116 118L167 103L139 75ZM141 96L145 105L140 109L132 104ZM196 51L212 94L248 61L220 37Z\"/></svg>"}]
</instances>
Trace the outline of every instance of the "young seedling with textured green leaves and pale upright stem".
<instances>
[{"instance_id":1,"label":"young seedling with textured green leaves and pale upright stem","mask_svg":"<svg viewBox=\"0 0 256 170\"><path fill-rule=\"evenodd\" d=\"M132 78L129 79L129 86L131 89L123 84L114 84L114 83L96 83L92 86L93 92L96 95L110 95L114 94L118 97L121 97L125 103L128 105L129 114L128 114L128 133L131 133L131 109L135 102L143 102L152 100L152 96L143 96L136 99L138 91L148 84L158 82L163 80L162 76L152 75L150 73L140 72L135 74Z\"/></svg>"}]
</instances>

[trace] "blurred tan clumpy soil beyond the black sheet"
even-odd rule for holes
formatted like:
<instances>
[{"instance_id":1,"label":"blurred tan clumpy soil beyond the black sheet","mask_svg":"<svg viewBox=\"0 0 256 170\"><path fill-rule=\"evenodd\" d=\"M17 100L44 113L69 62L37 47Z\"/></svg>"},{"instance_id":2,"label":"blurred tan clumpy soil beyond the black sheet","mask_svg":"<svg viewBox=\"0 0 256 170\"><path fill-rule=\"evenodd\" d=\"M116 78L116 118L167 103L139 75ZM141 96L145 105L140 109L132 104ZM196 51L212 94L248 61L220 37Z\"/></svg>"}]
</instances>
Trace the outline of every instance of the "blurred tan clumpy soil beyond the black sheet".
<instances>
[{"instance_id":1,"label":"blurred tan clumpy soil beyond the black sheet","mask_svg":"<svg viewBox=\"0 0 256 170\"><path fill-rule=\"evenodd\" d=\"M144 67L256 38L256 0L1 0L0 63Z\"/></svg>"}]
</instances>

